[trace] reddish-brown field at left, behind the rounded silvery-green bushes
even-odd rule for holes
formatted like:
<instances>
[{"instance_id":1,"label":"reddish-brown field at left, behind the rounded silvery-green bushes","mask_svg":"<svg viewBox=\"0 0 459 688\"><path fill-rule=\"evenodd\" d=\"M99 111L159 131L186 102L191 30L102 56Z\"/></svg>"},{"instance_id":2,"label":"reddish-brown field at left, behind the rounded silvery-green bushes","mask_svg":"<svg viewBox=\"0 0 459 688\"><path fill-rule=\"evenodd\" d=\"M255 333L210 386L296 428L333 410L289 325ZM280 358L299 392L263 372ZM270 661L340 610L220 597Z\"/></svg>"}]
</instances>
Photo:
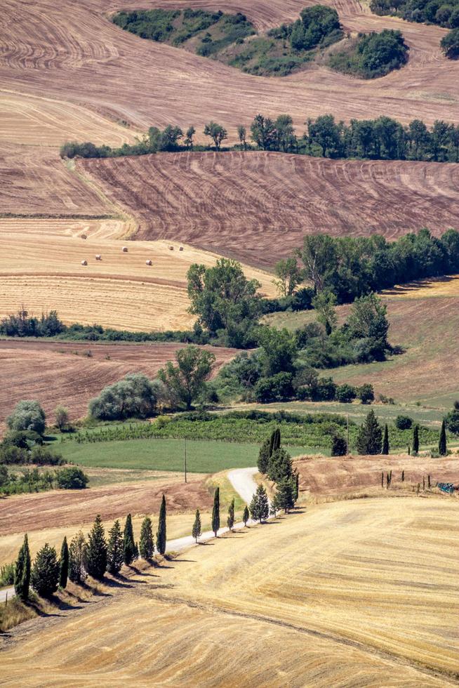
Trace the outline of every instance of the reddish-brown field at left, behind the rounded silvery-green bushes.
<instances>
[{"instance_id":1,"label":"reddish-brown field at left, behind the rounded silvery-green bushes","mask_svg":"<svg viewBox=\"0 0 459 688\"><path fill-rule=\"evenodd\" d=\"M72 418L80 418L89 399L105 385L132 372L154 377L182 346L0 340L0 424L20 399L36 399L50 418L58 404L66 406ZM237 353L220 347L211 350L215 372Z\"/></svg>"}]
</instances>

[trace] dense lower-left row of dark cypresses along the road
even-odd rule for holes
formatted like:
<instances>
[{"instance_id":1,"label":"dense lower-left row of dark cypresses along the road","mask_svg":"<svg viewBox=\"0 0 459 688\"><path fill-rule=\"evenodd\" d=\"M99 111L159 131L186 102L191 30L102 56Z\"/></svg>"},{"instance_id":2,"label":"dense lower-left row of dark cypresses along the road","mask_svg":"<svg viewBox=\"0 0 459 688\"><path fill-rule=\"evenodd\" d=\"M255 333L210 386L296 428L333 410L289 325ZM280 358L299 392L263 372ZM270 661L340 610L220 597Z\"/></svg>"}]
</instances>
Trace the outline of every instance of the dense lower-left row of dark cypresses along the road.
<instances>
[{"instance_id":1,"label":"dense lower-left row of dark cypresses along the road","mask_svg":"<svg viewBox=\"0 0 459 688\"><path fill-rule=\"evenodd\" d=\"M163 495L159 510L159 522L156 537L157 552L166 552L166 497ZM130 565L138 557L151 560L154 554L154 536L152 520L146 516L140 529L140 542L134 540L131 514L126 517L124 530L121 531L119 520L116 520L108 536L100 516L95 521L86 541L83 533L74 536L70 547L67 538L62 541L60 558L54 547L48 543L36 554L32 566L30 559L29 541L27 534L19 550L15 562L14 588L22 602L29 599L29 588L41 597L50 597L58 588L67 587L67 579L74 583L81 583L87 575L102 580L105 572L117 575L123 564Z\"/></svg>"}]
</instances>

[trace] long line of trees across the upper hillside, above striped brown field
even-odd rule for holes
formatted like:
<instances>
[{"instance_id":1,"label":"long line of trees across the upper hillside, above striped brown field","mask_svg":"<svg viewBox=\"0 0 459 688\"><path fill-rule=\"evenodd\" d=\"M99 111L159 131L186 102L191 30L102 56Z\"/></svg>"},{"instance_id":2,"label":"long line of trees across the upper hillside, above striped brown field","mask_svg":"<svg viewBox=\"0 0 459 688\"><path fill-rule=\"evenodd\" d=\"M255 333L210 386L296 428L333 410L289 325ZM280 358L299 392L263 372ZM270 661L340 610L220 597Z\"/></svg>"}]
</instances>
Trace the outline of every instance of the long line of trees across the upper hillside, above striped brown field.
<instances>
[{"instance_id":1,"label":"long line of trees across the upper hillside, above striped brown field","mask_svg":"<svg viewBox=\"0 0 459 688\"><path fill-rule=\"evenodd\" d=\"M459 126L444 120L437 119L428 127L421 119L413 119L404 125L392 117L381 116L351 119L349 124L345 124L344 121L335 121L332 114L324 114L316 119L308 118L305 126L305 131L297 135L289 114L281 114L276 119L257 114L248 131L243 124L237 127L239 144L232 150L267 150L345 159L459 161ZM212 142L207 147L195 143L196 128L193 125L184 133L179 126L169 124L163 131L150 127L137 143L125 143L119 148L96 146L89 142L67 142L62 145L60 155L63 158L105 158L223 150L222 145L228 139L225 126L210 121L204 126L203 133ZM227 147L225 150L230 149Z\"/></svg>"}]
</instances>

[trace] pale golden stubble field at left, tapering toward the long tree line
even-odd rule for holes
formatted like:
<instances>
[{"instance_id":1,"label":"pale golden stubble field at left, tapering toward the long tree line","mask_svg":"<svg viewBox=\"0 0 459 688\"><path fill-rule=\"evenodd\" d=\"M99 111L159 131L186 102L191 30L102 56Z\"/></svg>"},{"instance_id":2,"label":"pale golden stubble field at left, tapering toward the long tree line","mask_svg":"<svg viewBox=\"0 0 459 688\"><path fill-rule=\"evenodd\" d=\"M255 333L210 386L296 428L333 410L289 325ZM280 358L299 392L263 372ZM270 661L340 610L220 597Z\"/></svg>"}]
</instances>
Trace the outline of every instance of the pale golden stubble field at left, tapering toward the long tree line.
<instances>
[{"instance_id":1,"label":"pale golden stubble field at left, tapering toward the long tree line","mask_svg":"<svg viewBox=\"0 0 459 688\"><path fill-rule=\"evenodd\" d=\"M89 140L121 146L134 139L128 128L74 103L0 91L2 143L59 146L65 140Z\"/></svg>"}]
</instances>

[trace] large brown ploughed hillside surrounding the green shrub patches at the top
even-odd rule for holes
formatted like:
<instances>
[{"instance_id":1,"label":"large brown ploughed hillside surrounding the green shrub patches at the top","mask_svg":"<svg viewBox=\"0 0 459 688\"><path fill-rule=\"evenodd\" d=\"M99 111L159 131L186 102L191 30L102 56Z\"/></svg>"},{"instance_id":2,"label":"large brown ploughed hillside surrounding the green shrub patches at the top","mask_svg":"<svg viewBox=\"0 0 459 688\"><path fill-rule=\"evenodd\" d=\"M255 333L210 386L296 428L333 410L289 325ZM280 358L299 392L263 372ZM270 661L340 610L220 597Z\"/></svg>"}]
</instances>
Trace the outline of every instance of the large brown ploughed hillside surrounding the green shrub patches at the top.
<instances>
[{"instance_id":1,"label":"large brown ploughed hillside surrounding the green shrub patches at the top","mask_svg":"<svg viewBox=\"0 0 459 688\"><path fill-rule=\"evenodd\" d=\"M164 6L164 1L140 4ZM305 4L227 0L221 9L241 9L267 28L292 20ZM134 5L138 3L129 0L128 6ZM22 6L7 0L0 27L0 87L84 104L140 128L193 122L201 131L206 121L218 119L232 135L237 124L249 124L258 111L289 112L298 127L324 112L338 119L387 114L405 122L413 117L429 124L434 119L458 121L459 65L442 57L439 48L446 29L376 17L357 1L340 1L340 19L350 31L400 28L411 46L408 65L370 81L319 65L284 79L267 79L123 32L107 13L125 6L102 0L44 0L39 6L28 4L18 21Z\"/></svg>"}]
</instances>

